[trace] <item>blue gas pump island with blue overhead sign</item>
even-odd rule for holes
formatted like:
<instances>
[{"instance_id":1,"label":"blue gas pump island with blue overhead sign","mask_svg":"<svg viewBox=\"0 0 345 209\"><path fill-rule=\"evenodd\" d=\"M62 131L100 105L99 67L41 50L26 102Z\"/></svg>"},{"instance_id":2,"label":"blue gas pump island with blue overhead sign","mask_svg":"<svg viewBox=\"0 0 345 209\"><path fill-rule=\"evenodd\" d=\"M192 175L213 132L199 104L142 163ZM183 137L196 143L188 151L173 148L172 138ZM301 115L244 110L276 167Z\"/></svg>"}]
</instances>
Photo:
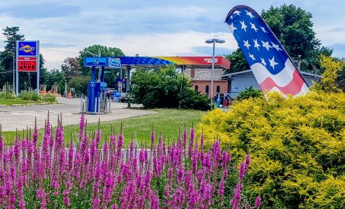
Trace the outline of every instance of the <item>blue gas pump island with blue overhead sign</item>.
<instances>
[{"instance_id":1,"label":"blue gas pump island with blue overhead sign","mask_svg":"<svg viewBox=\"0 0 345 209\"><path fill-rule=\"evenodd\" d=\"M107 100L107 83L105 68L121 68L120 60L111 57L85 57L84 66L91 67L91 80L87 98L86 113L105 113L110 111L110 100ZM95 70L101 70L100 79L95 79ZM108 105L109 103L109 105Z\"/></svg>"}]
</instances>

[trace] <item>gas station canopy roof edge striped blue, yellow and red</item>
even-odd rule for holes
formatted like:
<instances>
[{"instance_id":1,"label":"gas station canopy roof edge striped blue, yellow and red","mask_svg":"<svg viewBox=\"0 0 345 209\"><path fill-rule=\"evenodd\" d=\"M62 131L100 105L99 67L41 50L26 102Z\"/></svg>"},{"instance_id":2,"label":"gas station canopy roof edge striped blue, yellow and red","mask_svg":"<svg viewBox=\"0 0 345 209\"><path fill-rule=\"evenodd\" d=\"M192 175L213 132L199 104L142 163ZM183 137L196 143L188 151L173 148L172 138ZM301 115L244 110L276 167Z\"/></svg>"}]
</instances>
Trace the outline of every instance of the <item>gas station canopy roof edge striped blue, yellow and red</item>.
<instances>
[{"instance_id":1,"label":"gas station canopy roof edge striped blue, yellow and red","mask_svg":"<svg viewBox=\"0 0 345 209\"><path fill-rule=\"evenodd\" d=\"M193 66L196 68L210 68L212 56L116 56L121 66L131 68L160 67L164 65ZM223 56L215 56L215 67L230 68L230 61Z\"/></svg>"}]
</instances>

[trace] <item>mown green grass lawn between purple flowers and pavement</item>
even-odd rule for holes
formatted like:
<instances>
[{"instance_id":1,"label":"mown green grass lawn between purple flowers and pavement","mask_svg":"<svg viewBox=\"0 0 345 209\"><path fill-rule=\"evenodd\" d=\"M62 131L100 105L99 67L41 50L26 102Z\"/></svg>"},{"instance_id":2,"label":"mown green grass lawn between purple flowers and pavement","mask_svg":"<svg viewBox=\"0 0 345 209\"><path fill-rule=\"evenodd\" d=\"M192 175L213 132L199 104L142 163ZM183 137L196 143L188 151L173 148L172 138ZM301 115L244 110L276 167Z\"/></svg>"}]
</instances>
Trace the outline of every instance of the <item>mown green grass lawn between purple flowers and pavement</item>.
<instances>
[{"instance_id":1,"label":"mown green grass lawn between purple flowers and pavement","mask_svg":"<svg viewBox=\"0 0 345 209\"><path fill-rule=\"evenodd\" d=\"M154 111L157 111L157 113L100 123L102 140L105 140L106 136L109 139L109 135L112 133L112 127L114 128L114 132L118 134L122 122L123 135L125 137L124 144L129 144L132 136L138 144L141 144L141 142L145 144L145 141L149 144L152 127L156 134L162 133L162 136L166 140L169 138L172 141L176 139L179 127L181 127L181 132L183 132L184 125L186 125L189 131L192 124L194 123L195 127L197 123L200 123L201 116L206 114L206 111L181 109L154 109ZM71 135L73 141L75 141L79 132L79 125L66 125L64 128L66 141L69 141ZM90 135L97 129L98 123L87 124L87 130ZM22 135L22 132L20 134ZM40 130L40 139L42 138L42 134L43 130ZM15 132L3 132L3 136L5 137L6 144L13 144Z\"/></svg>"}]
</instances>

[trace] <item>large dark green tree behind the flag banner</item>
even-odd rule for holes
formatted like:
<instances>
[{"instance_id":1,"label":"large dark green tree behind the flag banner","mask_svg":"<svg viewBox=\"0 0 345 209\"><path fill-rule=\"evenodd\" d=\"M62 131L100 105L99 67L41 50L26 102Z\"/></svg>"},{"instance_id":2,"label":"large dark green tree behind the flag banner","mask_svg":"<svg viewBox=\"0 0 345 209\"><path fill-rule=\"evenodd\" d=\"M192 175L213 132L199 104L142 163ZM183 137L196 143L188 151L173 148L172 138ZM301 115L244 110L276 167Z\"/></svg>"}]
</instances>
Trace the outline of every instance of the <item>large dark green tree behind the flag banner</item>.
<instances>
[{"instance_id":1,"label":"large dark green tree behind the flag banner","mask_svg":"<svg viewBox=\"0 0 345 209\"><path fill-rule=\"evenodd\" d=\"M282 43L286 52L293 58L297 59L301 56L301 70L308 72L318 72L320 68L319 56L331 56L332 49L322 47L319 39L315 37L315 32L312 29L312 13L302 10L291 5L282 5L280 7L271 6L268 10L263 10L261 17L266 21L270 29L272 29L275 36ZM228 56L234 65L247 65L243 54L236 51ZM236 63L236 64L235 64ZM243 68L240 68L243 69ZM236 72L237 68L227 70L229 72Z\"/></svg>"}]
</instances>

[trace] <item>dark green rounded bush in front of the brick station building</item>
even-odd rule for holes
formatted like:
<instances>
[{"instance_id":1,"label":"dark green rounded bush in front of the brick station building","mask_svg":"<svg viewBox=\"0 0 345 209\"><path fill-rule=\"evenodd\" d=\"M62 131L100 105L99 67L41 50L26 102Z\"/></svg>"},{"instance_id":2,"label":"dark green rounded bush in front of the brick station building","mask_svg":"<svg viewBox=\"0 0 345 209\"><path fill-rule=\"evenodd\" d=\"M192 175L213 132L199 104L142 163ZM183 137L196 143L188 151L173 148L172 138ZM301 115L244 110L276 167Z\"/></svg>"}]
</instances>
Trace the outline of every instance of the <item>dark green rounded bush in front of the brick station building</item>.
<instances>
[{"instance_id":1,"label":"dark green rounded bush in front of the brick station building","mask_svg":"<svg viewBox=\"0 0 345 209\"><path fill-rule=\"evenodd\" d=\"M191 88L189 79L174 66L161 69L137 69L132 74L134 101L145 108L209 109L205 95Z\"/></svg>"}]
</instances>

